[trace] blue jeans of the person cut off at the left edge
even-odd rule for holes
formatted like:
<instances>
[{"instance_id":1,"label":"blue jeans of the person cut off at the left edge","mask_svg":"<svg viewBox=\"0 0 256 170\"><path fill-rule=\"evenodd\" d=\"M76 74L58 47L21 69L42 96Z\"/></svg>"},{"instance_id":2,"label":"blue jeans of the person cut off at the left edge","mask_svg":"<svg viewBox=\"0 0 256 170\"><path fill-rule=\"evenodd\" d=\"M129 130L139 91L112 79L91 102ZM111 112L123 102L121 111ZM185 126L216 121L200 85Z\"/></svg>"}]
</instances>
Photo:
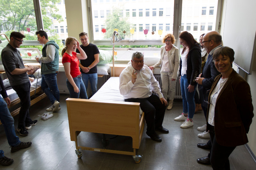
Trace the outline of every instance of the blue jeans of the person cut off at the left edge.
<instances>
[{"instance_id":1,"label":"blue jeans of the person cut off at the left edge","mask_svg":"<svg viewBox=\"0 0 256 170\"><path fill-rule=\"evenodd\" d=\"M19 137L16 136L14 129L14 119L10 114L6 102L0 96L0 120L3 123L4 131L10 146L17 146L20 144ZM0 159L4 157L4 151L0 150Z\"/></svg>"}]
</instances>

